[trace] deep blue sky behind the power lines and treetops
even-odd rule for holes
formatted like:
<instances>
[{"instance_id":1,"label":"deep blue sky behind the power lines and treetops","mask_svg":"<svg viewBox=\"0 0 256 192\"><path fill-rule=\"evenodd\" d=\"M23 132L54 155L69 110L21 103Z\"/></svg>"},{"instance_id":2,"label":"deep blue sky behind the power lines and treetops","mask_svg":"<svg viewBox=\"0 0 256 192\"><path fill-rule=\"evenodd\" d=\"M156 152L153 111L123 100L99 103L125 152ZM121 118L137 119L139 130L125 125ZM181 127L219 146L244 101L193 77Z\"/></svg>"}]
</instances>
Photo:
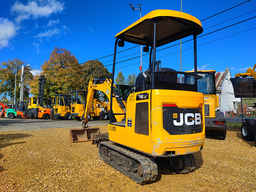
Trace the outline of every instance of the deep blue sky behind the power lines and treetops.
<instances>
[{"instance_id":1,"label":"deep blue sky behind the power lines and treetops","mask_svg":"<svg viewBox=\"0 0 256 192\"><path fill-rule=\"evenodd\" d=\"M182 11L197 17L199 20L203 20L243 2L245 0L216 0L214 3L213 1L205 0L183 0ZM79 60L79 63L111 55L114 50L115 35L140 17L139 10L133 11L128 5L129 3L135 9L139 8L136 6L137 4L141 4L142 16L144 16L155 9L180 11L181 2L180 0L1 1L0 62L18 57L20 60L29 61L28 64L32 68L40 69L44 61L49 59L49 55L54 47L70 50ZM256 16L255 9L256 0L251 0L224 13L203 20L204 31L201 35L252 18ZM230 21L225 22L226 20ZM226 67L229 67L231 75L234 77L236 73L245 72L246 68L253 67L256 62L256 29L252 29L256 27L255 23L256 18L253 18L201 38L199 37L197 39L198 68L213 69L218 72L225 71ZM189 39L191 37L185 38L182 41L184 42ZM179 41L157 49L159 50L177 43ZM133 46L135 45L125 43L123 48L117 48L117 52ZM184 50L182 52L182 71L193 69L193 49L185 50L191 47L193 47L192 41L182 44L182 49ZM177 51L179 51L179 46L158 51L156 57L160 58L157 60L162 61L162 67L169 67L179 71L179 53L175 53ZM131 55L133 53L136 54ZM127 55L131 56L124 57ZM117 62L138 56L140 56L140 48L133 48L117 54L117 58L124 57L118 59ZM99 59L99 61L104 65L110 65L112 64L112 59L113 56L110 56ZM143 70L148 68L146 60L148 60L147 55L143 56ZM131 66L125 67L127 65ZM116 68L123 68L116 69L115 76L119 70L123 72L125 77L133 72L137 75L140 72L139 66L139 57L118 63ZM112 72L112 66L107 68Z\"/></svg>"}]
</instances>

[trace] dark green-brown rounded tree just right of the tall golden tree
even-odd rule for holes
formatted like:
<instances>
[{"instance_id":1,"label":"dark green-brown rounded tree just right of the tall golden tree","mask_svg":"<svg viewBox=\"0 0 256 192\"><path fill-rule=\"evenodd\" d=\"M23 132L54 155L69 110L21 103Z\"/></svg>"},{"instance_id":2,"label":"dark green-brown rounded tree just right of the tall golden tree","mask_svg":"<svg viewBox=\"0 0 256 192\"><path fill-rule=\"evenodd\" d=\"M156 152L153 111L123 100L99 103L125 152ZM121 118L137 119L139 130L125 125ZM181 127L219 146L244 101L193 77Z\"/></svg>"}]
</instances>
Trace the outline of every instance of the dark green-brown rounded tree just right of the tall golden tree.
<instances>
[{"instance_id":1,"label":"dark green-brown rounded tree just right of the tall golden tree","mask_svg":"<svg viewBox=\"0 0 256 192\"><path fill-rule=\"evenodd\" d=\"M112 73L108 72L108 69L98 61L97 59L88 60L82 64L83 66L83 77L84 77L84 89L88 88L88 84L91 78L94 79L110 79Z\"/></svg>"}]
</instances>

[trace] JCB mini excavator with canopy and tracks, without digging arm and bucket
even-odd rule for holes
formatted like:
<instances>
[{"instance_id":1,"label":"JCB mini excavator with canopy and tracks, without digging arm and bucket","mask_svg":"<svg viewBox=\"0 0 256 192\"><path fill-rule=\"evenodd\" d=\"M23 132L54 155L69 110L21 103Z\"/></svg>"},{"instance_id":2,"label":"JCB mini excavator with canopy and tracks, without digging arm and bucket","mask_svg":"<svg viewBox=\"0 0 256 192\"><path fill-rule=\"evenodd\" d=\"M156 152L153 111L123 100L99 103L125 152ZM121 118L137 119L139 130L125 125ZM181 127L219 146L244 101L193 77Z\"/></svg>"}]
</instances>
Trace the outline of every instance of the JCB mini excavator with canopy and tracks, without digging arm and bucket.
<instances>
[{"instance_id":1,"label":"JCB mini excavator with canopy and tracks, without digging arm and bucket","mask_svg":"<svg viewBox=\"0 0 256 192\"><path fill-rule=\"evenodd\" d=\"M137 183L154 181L158 165L177 173L195 170L193 153L201 151L205 142L204 96L197 92L197 80L203 77L197 71L168 68L178 68L179 63L172 61L166 63L168 67L159 68L156 48L193 36L193 67L197 69L196 37L202 32L201 22L192 15L155 10L115 36L109 95L110 117L115 115L117 121L110 118L108 134L95 135L93 143L97 143L102 160ZM135 87L134 93L129 94L123 113L116 113L114 103L122 103L126 97L115 94L113 82L117 46L124 47L125 42L144 46L144 52L150 47L149 64L130 87ZM177 74L190 75L193 83L177 83Z\"/></svg>"}]
</instances>

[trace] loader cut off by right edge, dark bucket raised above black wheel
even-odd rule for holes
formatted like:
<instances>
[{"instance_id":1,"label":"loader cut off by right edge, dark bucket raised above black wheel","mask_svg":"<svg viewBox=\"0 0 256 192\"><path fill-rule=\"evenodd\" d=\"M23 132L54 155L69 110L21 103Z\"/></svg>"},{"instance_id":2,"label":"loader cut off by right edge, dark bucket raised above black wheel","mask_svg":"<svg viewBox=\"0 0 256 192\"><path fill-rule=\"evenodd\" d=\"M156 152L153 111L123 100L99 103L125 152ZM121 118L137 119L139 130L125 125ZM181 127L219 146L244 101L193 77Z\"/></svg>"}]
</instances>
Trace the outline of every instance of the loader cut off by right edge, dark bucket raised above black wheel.
<instances>
[{"instance_id":1,"label":"loader cut off by right edge, dark bucket raised above black wheel","mask_svg":"<svg viewBox=\"0 0 256 192\"><path fill-rule=\"evenodd\" d=\"M256 64L245 73L238 73L235 78L230 78L236 98L256 97ZM256 107L256 103L254 106ZM256 146L256 119L244 119L241 125L241 135L246 141L254 141Z\"/></svg>"}]
</instances>

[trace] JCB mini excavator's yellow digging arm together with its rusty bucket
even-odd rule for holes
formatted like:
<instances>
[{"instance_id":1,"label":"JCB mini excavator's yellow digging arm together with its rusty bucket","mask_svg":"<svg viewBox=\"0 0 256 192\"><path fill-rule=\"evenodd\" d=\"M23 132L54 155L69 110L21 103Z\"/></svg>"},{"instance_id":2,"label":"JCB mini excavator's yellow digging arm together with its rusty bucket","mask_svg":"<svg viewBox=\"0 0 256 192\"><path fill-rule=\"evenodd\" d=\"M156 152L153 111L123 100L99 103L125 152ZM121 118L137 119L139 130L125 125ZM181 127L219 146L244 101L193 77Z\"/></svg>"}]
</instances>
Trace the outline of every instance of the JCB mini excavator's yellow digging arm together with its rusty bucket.
<instances>
[{"instance_id":1,"label":"JCB mini excavator's yellow digging arm together with its rusty bucket","mask_svg":"<svg viewBox=\"0 0 256 192\"><path fill-rule=\"evenodd\" d=\"M91 113L91 108L94 101L94 92L102 91L106 94L110 100L110 90L111 90L111 79L93 79L91 78L88 84L88 93L86 96L86 104L83 112L82 118L82 129L71 129L69 132L69 140L71 142L82 142L82 141L92 141L93 135L100 134L99 128L89 128L88 121ZM126 103L124 100L121 100L119 93L116 90L116 86L113 84L115 91L113 96L116 97L115 102L113 102L113 112L123 115L113 115L112 119L115 121L122 121L125 118L125 106ZM106 135L106 134L104 134Z\"/></svg>"}]
</instances>

